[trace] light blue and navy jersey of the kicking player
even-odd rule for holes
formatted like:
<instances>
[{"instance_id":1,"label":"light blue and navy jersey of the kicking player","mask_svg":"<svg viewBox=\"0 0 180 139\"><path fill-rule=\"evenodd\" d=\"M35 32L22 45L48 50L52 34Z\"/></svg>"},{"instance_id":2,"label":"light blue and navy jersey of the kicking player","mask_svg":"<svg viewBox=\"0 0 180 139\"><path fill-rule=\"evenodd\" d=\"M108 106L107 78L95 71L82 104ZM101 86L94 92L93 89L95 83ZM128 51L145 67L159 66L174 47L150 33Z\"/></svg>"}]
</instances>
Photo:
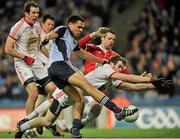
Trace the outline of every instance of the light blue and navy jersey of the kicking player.
<instances>
[{"instance_id":1,"label":"light blue and navy jersey of the kicking player","mask_svg":"<svg viewBox=\"0 0 180 139\"><path fill-rule=\"evenodd\" d=\"M53 31L58 34L58 38L52 43L49 56L50 65L56 61L70 61L71 53L80 50L77 41L65 26L58 26Z\"/></svg>"}]
</instances>

